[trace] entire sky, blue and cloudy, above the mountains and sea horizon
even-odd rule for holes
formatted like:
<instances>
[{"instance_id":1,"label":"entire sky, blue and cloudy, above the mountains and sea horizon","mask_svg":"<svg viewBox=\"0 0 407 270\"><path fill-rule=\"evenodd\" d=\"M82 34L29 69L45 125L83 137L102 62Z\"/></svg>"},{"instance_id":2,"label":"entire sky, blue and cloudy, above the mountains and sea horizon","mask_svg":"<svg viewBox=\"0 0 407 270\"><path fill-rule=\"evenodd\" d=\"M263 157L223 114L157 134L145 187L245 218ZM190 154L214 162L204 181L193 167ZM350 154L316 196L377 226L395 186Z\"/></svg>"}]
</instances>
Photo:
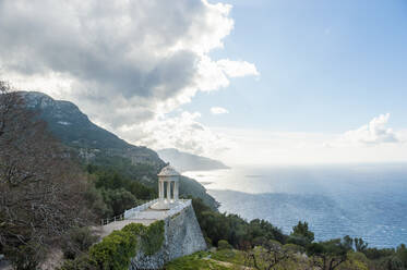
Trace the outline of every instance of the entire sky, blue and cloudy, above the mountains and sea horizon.
<instances>
[{"instance_id":1,"label":"entire sky, blue and cloudy, above the mountains and sea horizon","mask_svg":"<svg viewBox=\"0 0 407 270\"><path fill-rule=\"evenodd\" d=\"M407 161L404 0L0 0L0 77L153 149Z\"/></svg>"}]
</instances>

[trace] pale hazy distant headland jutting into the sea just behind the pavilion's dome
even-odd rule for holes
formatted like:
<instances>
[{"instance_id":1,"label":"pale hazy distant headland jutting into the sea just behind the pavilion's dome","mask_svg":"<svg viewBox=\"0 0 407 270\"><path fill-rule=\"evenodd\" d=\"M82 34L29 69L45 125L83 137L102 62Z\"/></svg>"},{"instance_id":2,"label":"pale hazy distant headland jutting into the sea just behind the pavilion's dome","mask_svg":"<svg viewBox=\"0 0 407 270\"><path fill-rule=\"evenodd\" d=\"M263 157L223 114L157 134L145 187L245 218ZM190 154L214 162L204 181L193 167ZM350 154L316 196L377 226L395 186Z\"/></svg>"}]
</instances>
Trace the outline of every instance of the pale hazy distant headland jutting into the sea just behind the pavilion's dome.
<instances>
[{"instance_id":1,"label":"pale hazy distant headland jutting into the sea just behind the pavilion's dome","mask_svg":"<svg viewBox=\"0 0 407 270\"><path fill-rule=\"evenodd\" d=\"M157 151L159 157L169 162L179 171L210 171L217 169L229 169L223 162L188 152L179 151L175 148L167 148Z\"/></svg>"}]
</instances>

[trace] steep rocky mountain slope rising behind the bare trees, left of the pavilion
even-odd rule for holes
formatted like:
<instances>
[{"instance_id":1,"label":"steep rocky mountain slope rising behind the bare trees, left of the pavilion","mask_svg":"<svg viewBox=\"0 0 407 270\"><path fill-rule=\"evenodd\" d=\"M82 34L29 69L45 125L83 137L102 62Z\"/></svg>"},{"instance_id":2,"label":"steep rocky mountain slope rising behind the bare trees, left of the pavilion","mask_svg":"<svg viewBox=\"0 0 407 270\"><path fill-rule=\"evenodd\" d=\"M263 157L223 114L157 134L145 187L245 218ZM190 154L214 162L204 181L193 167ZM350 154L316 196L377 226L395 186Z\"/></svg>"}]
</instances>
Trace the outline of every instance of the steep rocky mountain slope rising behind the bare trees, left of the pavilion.
<instances>
[{"instance_id":1,"label":"steep rocky mountain slope rising behind the bare trees, left of the pavilion","mask_svg":"<svg viewBox=\"0 0 407 270\"><path fill-rule=\"evenodd\" d=\"M132 163L163 167L158 155L146 147L130 145L111 132L89 121L72 102L55 100L37 91L22 91L27 107L39 110L49 131L63 144L76 148L83 158L92 159L99 152L131 159Z\"/></svg>"}]
</instances>

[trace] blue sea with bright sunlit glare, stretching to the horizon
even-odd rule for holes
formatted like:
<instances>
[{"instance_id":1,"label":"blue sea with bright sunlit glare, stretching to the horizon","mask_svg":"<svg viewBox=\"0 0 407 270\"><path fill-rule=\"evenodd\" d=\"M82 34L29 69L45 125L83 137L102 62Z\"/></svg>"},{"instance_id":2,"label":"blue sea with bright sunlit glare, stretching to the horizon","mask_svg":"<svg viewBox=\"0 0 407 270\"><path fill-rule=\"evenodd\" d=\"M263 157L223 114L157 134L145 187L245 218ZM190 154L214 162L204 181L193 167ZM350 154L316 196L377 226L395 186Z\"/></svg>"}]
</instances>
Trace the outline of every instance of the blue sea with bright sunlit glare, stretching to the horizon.
<instances>
[{"instance_id":1,"label":"blue sea with bright sunlit glare, stretching to the horizon","mask_svg":"<svg viewBox=\"0 0 407 270\"><path fill-rule=\"evenodd\" d=\"M316 240L350 235L369 246L407 244L407 164L234 168L184 175L222 212L265 219L289 233L309 222Z\"/></svg>"}]
</instances>

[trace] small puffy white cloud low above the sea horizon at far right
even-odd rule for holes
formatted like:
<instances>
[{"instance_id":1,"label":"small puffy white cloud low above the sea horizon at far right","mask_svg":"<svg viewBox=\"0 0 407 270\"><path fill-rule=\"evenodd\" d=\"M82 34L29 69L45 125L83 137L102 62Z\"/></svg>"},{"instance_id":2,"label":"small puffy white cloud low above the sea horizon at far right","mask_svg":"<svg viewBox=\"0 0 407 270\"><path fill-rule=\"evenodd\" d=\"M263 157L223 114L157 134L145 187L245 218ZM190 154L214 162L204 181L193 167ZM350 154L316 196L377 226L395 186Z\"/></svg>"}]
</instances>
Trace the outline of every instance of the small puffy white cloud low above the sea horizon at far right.
<instances>
[{"instance_id":1,"label":"small puffy white cloud low above the sea horizon at far right","mask_svg":"<svg viewBox=\"0 0 407 270\"><path fill-rule=\"evenodd\" d=\"M348 131L342 136L343 142L351 144L378 145L386 143L399 143L397 134L390 127L387 122L390 113L373 118L369 124Z\"/></svg>"}]
</instances>

